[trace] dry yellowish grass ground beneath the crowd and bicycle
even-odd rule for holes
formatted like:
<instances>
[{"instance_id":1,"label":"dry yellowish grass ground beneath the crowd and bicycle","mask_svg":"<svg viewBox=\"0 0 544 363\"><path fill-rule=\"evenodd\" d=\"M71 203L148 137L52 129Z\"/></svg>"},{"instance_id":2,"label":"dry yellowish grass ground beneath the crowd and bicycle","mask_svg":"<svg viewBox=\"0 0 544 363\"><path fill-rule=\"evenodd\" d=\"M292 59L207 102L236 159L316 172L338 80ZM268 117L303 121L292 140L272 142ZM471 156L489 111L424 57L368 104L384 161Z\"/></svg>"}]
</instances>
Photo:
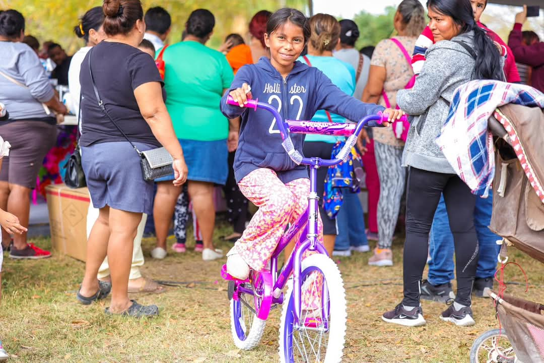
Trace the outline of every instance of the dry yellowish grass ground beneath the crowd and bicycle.
<instances>
[{"instance_id":1,"label":"dry yellowish grass ground beneath the crowd and bicycle","mask_svg":"<svg viewBox=\"0 0 544 363\"><path fill-rule=\"evenodd\" d=\"M231 230L217 228L215 240ZM47 238L35 239L51 247ZM169 243L173 243L173 239ZM188 242L190 247L192 243ZM153 239L144 239L149 256ZM191 249L189 249L191 250ZM423 302L427 324L405 328L381 321L382 312L394 307L402 296L402 241L395 241L395 264L391 268L369 267L369 254L335 259L342 271L348 298L348 331L345 362L468 362L474 339L497 327L490 299L474 299L477 321L469 328L448 325L438 318L445 306ZM544 301L542 264L510 251L510 261L520 263L529 275L529 292L523 292L523 274L516 267L506 270L508 292L526 299ZM276 362L280 310L271 313L261 345L250 352L234 347L230 335L226 284L219 271L224 260L203 262L192 251L163 261L147 258L143 273L154 279L176 281L160 295L134 295L138 302L157 304L160 317L134 321L106 317L109 300L83 306L75 292L84 264L55 255L46 261L4 260L3 300L0 309L0 339L11 354L10 362ZM516 284L517 282L517 284ZM523 284L524 285L524 284Z\"/></svg>"}]
</instances>

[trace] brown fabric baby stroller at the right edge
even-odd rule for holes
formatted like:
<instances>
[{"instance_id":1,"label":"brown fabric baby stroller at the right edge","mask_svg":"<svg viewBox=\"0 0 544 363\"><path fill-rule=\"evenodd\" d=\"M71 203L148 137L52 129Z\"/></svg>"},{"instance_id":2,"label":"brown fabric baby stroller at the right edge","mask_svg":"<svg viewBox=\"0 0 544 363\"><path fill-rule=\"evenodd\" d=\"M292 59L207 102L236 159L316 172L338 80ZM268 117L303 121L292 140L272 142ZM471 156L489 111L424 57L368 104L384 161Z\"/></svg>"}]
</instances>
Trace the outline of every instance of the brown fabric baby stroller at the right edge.
<instances>
[{"instance_id":1,"label":"brown fabric baby stroller at the right edge","mask_svg":"<svg viewBox=\"0 0 544 363\"><path fill-rule=\"evenodd\" d=\"M544 263L544 113L508 104L496 110L489 127L495 143L493 213L490 229L503 237L499 262L513 245ZM502 330L474 341L471 363L544 363L544 305L488 291Z\"/></svg>"}]
</instances>

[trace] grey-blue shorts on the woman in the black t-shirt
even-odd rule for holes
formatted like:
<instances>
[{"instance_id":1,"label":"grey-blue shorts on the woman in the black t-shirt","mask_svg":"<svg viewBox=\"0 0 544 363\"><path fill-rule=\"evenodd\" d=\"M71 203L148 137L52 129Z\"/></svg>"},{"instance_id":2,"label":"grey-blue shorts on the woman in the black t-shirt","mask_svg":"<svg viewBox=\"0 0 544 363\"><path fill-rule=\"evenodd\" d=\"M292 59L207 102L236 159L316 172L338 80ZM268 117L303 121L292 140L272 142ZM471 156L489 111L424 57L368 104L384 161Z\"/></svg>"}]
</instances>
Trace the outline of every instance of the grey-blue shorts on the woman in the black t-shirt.
<instances>
[{"instance_id":1,"label":"grey-blue shorts on the woman in the black t-shirt","mask_svg":"<svg viewBox=\"0 0 544 363\"><path fill-rule=\"evenodd\" d=\"M134 143L145 151L157 146ZM146 213L153 209L153 181L145 181L141 158L127 141L112 141L81 147L81 163L92 205Z\"/></svg>"}]
</instances>

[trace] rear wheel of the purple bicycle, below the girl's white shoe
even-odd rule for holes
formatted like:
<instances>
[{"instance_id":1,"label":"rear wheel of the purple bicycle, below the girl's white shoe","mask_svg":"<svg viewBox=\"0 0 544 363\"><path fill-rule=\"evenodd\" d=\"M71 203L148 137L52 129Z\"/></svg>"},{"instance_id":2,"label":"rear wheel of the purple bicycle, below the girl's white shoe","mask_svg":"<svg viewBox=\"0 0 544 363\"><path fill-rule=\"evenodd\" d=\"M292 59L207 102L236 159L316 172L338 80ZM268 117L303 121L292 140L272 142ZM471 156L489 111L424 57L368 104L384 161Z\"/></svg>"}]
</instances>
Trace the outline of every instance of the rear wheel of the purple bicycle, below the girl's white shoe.
<instances>
[{"instance_id":1,"label":"rear wheel of the purple bicycle, below the girl's white shoe","mask_svg":"<svg viewBox=\"0 0 544 363\"><path fill-rule=\"evenodd\" d=\"M234 284L233 281L231 281ZM252 290L251 284L246 282L241 285ZM255 286L259 293L259 287ZM234 291L238 299L231 299L231 333L234 344L239 349L250 350L258 346L264 333L266 320L257 317L259 298L244 293L240 290Z\"/></svg>"}]
</instances>

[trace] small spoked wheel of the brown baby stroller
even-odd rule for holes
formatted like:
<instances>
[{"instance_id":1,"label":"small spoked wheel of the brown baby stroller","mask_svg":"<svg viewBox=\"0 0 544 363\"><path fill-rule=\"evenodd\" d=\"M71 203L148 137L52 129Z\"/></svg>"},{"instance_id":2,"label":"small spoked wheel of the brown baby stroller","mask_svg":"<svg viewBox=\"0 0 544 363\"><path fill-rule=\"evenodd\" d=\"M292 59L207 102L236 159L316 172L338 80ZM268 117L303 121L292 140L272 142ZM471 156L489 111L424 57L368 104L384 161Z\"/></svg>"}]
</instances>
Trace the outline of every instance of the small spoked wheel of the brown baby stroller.
<instances>
[{"instance_id":1,"label":"small spoked wheel of the brown baby stroller","mask_svg":"<svg viewBox=\"0 0 544 363\"><path fill-rule=\"evenodd\" d=\"M515 363L516 353L504 330L488 330L474 341L471 363Z\"/></svg>"}]
</instances>

